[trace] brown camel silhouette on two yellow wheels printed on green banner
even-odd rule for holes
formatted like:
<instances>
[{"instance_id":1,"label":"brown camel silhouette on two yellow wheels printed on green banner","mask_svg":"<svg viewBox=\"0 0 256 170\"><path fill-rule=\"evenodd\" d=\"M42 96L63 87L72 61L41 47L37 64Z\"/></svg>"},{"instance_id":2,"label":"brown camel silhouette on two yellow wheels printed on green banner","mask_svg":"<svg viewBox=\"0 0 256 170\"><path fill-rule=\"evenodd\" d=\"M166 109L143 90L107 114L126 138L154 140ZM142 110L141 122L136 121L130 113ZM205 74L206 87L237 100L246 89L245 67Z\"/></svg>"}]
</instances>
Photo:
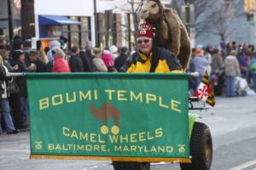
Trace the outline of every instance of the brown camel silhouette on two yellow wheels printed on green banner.
<instances>
[{"instance_id":1,"label":"brown camel silhouette on two yellow wheels printed on green banner","mask_svg":"<svg viewBox=\"0 0 256 170\"><path fill-rule=\"evenodd\" d=\"M100 119L104 125L107 124L108 119L113 119L115 124L119 127L121 112L111 103L104 103L99 109L95 105L90 105L90 112L96 119Z\"/></svg>"}]
</instances>

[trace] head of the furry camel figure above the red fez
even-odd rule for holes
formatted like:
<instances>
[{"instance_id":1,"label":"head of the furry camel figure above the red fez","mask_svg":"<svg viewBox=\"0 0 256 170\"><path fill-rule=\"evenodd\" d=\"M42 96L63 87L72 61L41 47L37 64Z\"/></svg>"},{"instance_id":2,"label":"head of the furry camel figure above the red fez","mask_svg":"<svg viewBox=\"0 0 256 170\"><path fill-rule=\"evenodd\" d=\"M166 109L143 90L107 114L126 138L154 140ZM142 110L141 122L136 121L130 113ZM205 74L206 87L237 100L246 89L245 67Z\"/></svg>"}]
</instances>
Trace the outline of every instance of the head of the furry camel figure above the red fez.
<instances>
[{"instance_id":1,"label":"head of the furry camel figure above the red fez","mask_svg":"<svg viewBox=\"0 0 256 170\"><path fill-rule=\"evenodd\" d=\"M140 11L140 18L148 22L154 22L159 20L164 14L164 7L160 0L146 0L143 2L142 9Z\"/></svg>"}]
</instances>

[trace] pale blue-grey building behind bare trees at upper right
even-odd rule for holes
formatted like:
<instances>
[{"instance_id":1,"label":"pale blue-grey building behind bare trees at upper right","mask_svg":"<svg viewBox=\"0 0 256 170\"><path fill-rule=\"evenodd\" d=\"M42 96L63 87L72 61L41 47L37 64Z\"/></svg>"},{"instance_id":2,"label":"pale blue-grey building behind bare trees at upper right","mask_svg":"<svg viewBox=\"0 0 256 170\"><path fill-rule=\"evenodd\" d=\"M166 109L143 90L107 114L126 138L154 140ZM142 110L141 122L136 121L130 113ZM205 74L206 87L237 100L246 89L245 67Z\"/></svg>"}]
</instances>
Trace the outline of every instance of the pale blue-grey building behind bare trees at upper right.
<instances>
[{"instance_id":1,"label":"pale blue-grey building behind bare trees at upper right","mask_svg":"<svg viewBox=\"0 0 256 170\"><path fill-rule=\"evenodd\" d=\"M252 3L248 11L247 2ZM237 43L247 42L256 47L256 17L253 17L255 13L255 2L255 0L218 0L218 3L215 3L216 7L214 8L218 8L218 5L221 5L223 8L223 12L219 13L220 16L223 16L222 18L219 18L219 23L221 23L222 19L224 20L224 24L222 25L223 27L212 26L210 27L212 31L207 31L207 29L205 29L206 31L200 32L200 35L196 37L195 43L218 45L221 41L232 41ZM232 13L230 13L230 11L232 11ZM224 17L224 14L230 14L230 17ZM212 18L207 19L205 16L207 16L207 13L202 15L199 20L214 20ZM214 15L212 17L214 17ZM214 31L214 29L218 28L223 29L220 31ZM196 31L198 30L195 30L195 32ZM215 32L215 34L212 32ZM221 37L220 34L216 34L217 32L226 32L226 35Z\"/></svg>"}]
</instances>

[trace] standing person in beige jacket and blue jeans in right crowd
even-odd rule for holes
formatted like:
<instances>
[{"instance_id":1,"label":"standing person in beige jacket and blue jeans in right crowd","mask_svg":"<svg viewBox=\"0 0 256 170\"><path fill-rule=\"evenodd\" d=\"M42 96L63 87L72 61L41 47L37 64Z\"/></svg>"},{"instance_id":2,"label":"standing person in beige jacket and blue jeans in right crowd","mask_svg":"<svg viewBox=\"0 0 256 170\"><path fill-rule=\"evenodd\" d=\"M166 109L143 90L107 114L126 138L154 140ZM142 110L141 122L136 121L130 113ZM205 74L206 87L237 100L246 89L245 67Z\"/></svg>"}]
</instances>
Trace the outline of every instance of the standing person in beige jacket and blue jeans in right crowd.
<instances>
[{"instance_id":1,"label":"standing person in beige jacket and blue jeans in right crowd","mask_svg":"<svg viewBox=\"0 0 256 170\"><path fill-rule=\"evenodd\" d=\"M239 62L236 58L236 50L232 50L230 55L224 59L224 72L226 76L226 96L235 96L235 77L241 75Z\"/></svg>"}]
</instances>

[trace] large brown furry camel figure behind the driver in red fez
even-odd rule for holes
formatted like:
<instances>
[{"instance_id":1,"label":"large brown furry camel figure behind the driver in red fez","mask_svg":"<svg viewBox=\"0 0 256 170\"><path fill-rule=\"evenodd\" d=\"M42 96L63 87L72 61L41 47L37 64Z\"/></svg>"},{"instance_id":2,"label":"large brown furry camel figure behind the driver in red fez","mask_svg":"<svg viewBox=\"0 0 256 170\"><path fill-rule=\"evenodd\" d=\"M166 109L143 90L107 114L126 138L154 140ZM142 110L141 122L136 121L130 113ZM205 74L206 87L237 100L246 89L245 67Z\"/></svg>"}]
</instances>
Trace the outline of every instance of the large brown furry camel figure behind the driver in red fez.
<instances>
[{"instance_id":1,"label":"large brown furry camel figure behind the driver in red fez","mask_svg":"<svg viewBox=\"0 0 256 170\"><path fill-rule=\"evenodd\" d=\"M140 19L153 25L158 47L172 51L185 71L191 55L191 44L186 27L172 8L164 8L160 0L145 0Z\"/></svg>"}]
</instances>

